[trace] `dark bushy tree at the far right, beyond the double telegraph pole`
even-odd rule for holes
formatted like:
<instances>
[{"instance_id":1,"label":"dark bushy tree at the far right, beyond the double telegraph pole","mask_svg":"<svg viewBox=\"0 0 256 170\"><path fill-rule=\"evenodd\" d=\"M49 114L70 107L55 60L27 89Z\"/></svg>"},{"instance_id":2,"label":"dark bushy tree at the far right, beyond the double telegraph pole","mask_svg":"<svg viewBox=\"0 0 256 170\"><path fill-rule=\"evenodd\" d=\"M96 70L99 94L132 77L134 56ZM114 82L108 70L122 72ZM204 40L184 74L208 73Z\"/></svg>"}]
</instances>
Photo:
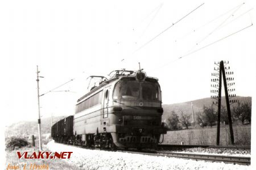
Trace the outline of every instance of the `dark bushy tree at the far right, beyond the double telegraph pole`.
<instances>
[{"instance_id":1,"label":"dark bushy tree at the far right, beyond the double telegraph pole","mask_svg":"<svg viewBox=\"0 0 256 170\"><path fill-rule=\"evenodd\" d=\"M238 101L237 105L233 106L233 116L241 120L242 124L245 123L245 120L251 123L251 102L240 103Z\"/></svg>"}]
</instances>

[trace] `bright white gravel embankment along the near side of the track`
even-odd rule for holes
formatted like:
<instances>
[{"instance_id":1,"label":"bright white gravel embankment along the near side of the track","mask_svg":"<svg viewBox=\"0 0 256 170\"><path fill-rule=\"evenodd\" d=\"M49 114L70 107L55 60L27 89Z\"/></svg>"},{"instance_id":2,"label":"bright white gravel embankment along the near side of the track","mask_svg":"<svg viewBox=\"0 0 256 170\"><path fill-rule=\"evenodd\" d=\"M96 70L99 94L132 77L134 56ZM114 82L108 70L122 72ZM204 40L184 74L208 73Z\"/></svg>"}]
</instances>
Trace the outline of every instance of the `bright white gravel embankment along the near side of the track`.
<instances>
[{"instance_id":1,"label":"bright white gravel embankment along the near side of the track","mask_svg":"<svg viewBox=\"0 0 256 170\"><path fill-rule=\"evenodd\" d=\"M72 151L71 159L65 160L83 169L252 169L246 165L211 163L123 152L86 150L79 147L61 145L54 141L49 142L47 147L51 151Z\"/></svg>"}]
</instances>

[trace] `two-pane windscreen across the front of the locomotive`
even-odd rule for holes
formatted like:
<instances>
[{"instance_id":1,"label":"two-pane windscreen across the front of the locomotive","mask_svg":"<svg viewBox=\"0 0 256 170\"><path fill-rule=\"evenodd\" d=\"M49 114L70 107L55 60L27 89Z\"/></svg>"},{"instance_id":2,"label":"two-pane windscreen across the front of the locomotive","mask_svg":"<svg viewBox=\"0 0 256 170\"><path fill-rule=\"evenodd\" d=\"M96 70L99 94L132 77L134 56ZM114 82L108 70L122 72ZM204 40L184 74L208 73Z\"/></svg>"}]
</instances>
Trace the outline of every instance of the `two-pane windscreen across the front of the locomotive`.
<instances>
[{"instance_id":1,"label":"two-pane windscreen across the front of the locomotive","mask_svg":"<svg viewBox=\"0 0 256 170\"><path fill-rule=\"evenodd\" d=\"M160 88L158 83L121 81L115 85L113 99L160 101Z\"/></svg>"}]
</instances>

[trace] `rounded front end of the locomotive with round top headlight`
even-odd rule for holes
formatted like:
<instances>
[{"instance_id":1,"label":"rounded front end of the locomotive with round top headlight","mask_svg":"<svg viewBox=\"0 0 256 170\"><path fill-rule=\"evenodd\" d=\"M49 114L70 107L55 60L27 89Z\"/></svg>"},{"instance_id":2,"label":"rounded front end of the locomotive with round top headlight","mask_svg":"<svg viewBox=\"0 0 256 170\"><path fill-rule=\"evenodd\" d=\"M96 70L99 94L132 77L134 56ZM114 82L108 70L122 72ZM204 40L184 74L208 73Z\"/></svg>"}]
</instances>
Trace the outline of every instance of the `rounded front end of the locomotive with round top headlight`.
<instances>
[{"instance_id":1,"label":"rounded front end of the locomotive with round top headlight","mask_svg":"<svg viewBox=\"0 0 256 170\"><path fill-rule=\"evenodd\" d=\"M112 94L114 117L109 127L117 147L154 148L161 134L162 100L158 79L138 71L135 76L123 76L115 83Z\"/></svg>"}]
</instances>

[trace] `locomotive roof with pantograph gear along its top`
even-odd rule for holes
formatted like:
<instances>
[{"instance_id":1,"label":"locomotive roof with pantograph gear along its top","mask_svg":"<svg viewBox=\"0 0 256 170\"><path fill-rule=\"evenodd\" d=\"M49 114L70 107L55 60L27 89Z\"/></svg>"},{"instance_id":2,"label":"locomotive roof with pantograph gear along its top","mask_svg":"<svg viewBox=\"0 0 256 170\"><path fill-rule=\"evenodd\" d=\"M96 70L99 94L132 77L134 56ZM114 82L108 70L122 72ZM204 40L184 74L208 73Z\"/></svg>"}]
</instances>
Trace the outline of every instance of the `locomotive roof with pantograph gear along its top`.
<instances>
[{"instance_id":1,"label":"locomotive roof with pantograph gear along its top","mask_svg":"<svg viewBox=\"0 0 256 170\"><path fill-rule=\"evenodd\" d=\"M117 73L119 73L119 71L122 70L115 70L118 71ZM112 71L113 72L113 71ZM131 71L128 71L129 73L131 73ZM134 74L133 74L134 73ZM109 84L110 82L114 82L115 80L122 80L123 78L135 78L136 77L136 73L143 73L145 75L144 80L149 80L150 82L152 82L152 80L154 80L155 82L158 82L157 78L154 77L149 77L146 76L146 73L142 72L142 71L137 71L137 72L132 72L129 75L125 75L125 74L115 74L114 76L112 76L112 78L102 81L102 83L100 84L100 86L97 86L95 88L93 88L91 91L89 91L87 94L85 94L84 96L80 97L77 102L81 101L82 99L84 99L86 96L89 96L90 94L93 94L93 92L96 92L97 90L99 90L100 88L106 86L106 84ZM110 73L111 74L111 73ZM127 80L127 79L126 79ZM135 79L134 79L135 80Z\"/></svg>"}]
</instances>

